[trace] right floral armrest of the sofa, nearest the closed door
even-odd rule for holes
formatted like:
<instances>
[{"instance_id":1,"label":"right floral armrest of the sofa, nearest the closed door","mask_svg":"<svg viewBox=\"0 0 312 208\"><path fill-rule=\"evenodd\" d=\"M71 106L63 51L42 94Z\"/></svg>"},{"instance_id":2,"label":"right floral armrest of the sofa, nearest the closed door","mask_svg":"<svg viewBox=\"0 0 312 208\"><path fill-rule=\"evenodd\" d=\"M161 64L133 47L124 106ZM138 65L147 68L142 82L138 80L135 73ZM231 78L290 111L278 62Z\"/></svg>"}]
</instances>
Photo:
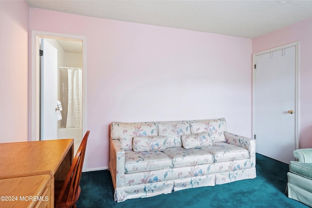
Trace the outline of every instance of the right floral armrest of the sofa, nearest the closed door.
<instances>
[{"instance_id":1,"label":"right floral armrest of the sofa, nearest the closed door","mask_svg":"<svg viewBox=\"0 0 312 208\"><path fill-rule=\"evenodd\" d=\"M224 136L226 143L248 150L250 159L255 164L255 139L239 136L230 132L224 132Z\"/></svg>"}]
</instances>

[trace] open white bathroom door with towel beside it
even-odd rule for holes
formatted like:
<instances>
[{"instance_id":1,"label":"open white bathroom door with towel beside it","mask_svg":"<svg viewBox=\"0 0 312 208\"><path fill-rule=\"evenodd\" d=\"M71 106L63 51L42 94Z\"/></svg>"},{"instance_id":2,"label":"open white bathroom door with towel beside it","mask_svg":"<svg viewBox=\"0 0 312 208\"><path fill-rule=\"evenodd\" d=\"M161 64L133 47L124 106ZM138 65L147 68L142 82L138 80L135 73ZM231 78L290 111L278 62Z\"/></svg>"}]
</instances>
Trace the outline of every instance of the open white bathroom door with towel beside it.
<instances>
[{"instance_id":1,"label":"open white bathroom door with towel beside it","mask_svg":"<svg viewBox=\"0 0 312 208\"><path fill-rule=\"evenodd\" d=\"M46 39L41 39L40 57L40 140L58 138L58 50Z\"/></svg>"}]
</instances>

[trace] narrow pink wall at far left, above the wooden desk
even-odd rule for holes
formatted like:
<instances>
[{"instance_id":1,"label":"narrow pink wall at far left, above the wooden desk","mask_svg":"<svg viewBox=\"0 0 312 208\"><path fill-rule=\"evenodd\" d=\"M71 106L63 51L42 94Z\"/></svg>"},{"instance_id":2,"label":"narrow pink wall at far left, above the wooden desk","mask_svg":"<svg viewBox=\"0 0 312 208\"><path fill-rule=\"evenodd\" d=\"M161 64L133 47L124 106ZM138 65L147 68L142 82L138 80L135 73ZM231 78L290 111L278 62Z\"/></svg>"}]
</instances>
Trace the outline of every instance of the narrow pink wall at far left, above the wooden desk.
<instances>
[{"instance_id":1,"label":"narrow pink wall at far left, above the wooden desk","mask_svg":"<svg viewBox=\"0 0 312 208\"><path fill-rule=\"evenodd\" d=\"M25 1L0 1L0 142L28 140L28 14Z\"/></svg>"}]
</instances>

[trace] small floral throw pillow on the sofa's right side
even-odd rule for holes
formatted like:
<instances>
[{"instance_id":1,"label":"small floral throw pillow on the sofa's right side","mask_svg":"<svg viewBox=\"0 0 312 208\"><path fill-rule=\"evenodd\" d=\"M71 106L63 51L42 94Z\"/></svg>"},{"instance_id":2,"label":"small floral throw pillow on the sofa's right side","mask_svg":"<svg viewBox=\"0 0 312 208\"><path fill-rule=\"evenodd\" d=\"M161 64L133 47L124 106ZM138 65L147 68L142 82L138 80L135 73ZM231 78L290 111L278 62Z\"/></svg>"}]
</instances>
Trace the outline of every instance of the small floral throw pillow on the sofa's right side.
<instances>
[{"instance_id":1,"label":"small floral throw pillow on the sofa's right side","mask_svg":"<svg viewBox=\"0 0 312 208\"><path fill-rule=\"evenodd\" d=\"M181 136L184 149L195 149L213 145L208 132L194 133Z\"/></svg>"}]
</instances>

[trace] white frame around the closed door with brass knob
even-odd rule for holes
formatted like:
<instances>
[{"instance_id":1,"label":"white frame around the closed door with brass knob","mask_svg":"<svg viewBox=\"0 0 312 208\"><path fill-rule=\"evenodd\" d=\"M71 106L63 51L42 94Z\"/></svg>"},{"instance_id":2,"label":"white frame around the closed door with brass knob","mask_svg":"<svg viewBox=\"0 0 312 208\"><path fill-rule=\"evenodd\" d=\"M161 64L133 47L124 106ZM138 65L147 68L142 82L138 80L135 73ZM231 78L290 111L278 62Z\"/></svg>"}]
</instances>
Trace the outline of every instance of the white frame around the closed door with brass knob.
<instances>
[{"instance_id":1,"label":"white frame around the closed door with brass knob","mask_svg":"<svg viewBox=\"0 0 312 208\"><path fill-rule=\"evenodd\" d=\"M299 149L299 45L300 45L300 42L299 41L296 41L296 42L292 42L292 43L289 43L289 44L286 44L286 45L282 45L282 46L278 46L278 47L275 47L275 48L271 48L271 49L268 49L268 50L265 50L265 51L260 51L260 52L257 52L257 53L254 53L253 54L253 100L252 100L252 103L253 103L253 106L252 106L252 137L254 138L254 135L256 134L255 132L255 94L256 94L256 89L255 89L255 82L256 82L256 77L255 77L255 59L256 59L256 56L260 56L260 55L263 55L263 54L267 54L267 53L270 53L270 52L273 52L273 51L278 51L278 50L281 50L281 49L284 49L284 48L290 48L290 47L295 47L295 109L294 109L294 119L295 119L295 150Z\"/></svg>"}]
</instances>

